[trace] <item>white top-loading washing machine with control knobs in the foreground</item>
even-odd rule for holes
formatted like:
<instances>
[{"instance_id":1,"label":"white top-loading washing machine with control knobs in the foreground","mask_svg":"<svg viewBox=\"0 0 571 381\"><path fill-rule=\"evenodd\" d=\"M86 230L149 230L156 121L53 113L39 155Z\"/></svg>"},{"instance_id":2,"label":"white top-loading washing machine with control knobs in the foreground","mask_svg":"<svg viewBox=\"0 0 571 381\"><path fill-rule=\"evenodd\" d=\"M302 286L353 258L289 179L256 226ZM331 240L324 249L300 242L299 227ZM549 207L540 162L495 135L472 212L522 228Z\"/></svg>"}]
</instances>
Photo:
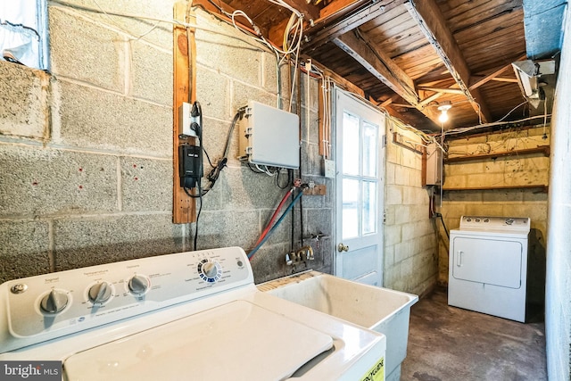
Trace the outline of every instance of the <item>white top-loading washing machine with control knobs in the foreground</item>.
<instances>
[{"instance_id":1,"label":"white top-loading washing machine with control knobs in the foreground","mask_svg":"<svg viewBox=\"0 0 571 381\"><path fill-rule=\"evenodd\" d=\"M384 335L258 291L237 247L12 280L0 306L6 372L61 361L64 380L385 380Z\"/></svg>"}]
</instances>

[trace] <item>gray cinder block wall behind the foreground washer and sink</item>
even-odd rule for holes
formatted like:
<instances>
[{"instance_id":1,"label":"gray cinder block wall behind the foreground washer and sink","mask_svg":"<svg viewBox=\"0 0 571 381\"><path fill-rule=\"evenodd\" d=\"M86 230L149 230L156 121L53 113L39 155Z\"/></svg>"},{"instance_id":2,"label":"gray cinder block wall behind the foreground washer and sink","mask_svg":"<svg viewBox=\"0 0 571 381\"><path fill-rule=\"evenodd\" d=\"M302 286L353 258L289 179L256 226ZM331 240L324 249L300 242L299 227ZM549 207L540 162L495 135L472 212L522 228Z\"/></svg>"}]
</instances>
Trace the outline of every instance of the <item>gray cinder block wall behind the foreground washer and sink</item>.
<instances>
[{"instance_id":1,"label":"gray cinder block wall behind the foreground washer and sink","mask_svg":"<svg viewBox=\"0 0 571 381\"><path fill-rule=\"evenodd\" d=\"M162 19L172 18L173 3L99 1ZM191 250L195 225L171 223L172 27L57 4L48 12L51 73L0 62L0 282ZM273 54L231 26L201 11L197 22L204 146L216 160L239 106L277 103L277 70ZM279 75L286 79L287 68ZM318 90L310 79L310 103L302 90L302 131L311 123L310 137L302 136L302 178L325 183L317 170ZM251 248L285 194L236 155L237 128L228 168L203 198L198 249ZM331 236L332 205L330 193L304 200L308 235ZM256 281L291 272L283 260L291 218L254 257ZM314 249L312 267L330 272L330 239Z\"/></svg>"}]
</instances>

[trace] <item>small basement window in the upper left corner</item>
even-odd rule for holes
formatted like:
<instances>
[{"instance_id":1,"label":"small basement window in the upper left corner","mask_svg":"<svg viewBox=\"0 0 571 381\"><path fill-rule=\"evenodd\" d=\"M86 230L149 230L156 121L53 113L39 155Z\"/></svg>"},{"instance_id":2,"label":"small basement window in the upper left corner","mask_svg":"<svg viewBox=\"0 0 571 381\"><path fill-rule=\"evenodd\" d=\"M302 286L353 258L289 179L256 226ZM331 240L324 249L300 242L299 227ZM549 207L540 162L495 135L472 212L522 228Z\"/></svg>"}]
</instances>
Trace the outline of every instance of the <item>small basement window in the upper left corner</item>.
<instances>
[{"instance_id":1,"label":"small basement window in the upper left corner","mask_svg":"<svg viewBox=\"0 0 571 381\"><path fill-rule=\"evenodd\" d=\"M47 0L0 2L0 60L47 70Z\"/></svg>"}]
</instances>

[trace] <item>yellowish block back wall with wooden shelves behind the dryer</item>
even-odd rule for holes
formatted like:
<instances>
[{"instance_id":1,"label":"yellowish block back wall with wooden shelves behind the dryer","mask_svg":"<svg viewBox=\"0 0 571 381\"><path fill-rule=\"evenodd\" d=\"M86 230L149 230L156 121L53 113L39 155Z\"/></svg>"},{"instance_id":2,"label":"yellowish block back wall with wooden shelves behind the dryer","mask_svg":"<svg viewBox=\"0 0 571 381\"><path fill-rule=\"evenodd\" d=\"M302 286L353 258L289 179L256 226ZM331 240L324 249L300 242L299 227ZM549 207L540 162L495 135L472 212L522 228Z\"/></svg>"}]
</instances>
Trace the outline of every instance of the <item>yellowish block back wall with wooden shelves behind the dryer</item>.
<instances>
[{"instance_id":1,"label":"yellowish block back wall with wooden shelves behind the dryer","mask_svg":"<svg viewBox=\"0 0 571 381\"><path fill-rule=\"evenodd\" d=\"M546 138L545 138L546 137ZM450 157L503 153L550 145L550 128L529 128L448 142ZM444 187L548 186L550 158L542 153L476 159L444 165ZM444 191L442 214L447 228L459 227L462 215L529 217L531 257L528 294L532 302L544 300L545 247L548 196L542 188ZM449 240L439 227L439 282L448 283Z\"/></svg>"}]
</instances>

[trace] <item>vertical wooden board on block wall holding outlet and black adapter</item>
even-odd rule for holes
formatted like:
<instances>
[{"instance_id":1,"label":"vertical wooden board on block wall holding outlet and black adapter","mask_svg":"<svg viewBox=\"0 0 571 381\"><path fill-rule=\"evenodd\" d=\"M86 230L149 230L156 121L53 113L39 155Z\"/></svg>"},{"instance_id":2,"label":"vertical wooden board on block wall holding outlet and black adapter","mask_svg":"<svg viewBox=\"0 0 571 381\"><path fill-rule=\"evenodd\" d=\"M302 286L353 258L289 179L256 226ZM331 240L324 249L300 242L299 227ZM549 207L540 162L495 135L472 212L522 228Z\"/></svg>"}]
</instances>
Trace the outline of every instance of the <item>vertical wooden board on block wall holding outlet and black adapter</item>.
<instances>
[{"instance_id":1,"label":"vertical wooden board on block wall holding outlet and black adapter","mask_svg":"<svg viewBox=\"0 0 571 381\"><path fill-rule=\"evenodd\" d=\"M196 23L194 12L190 11L186 1L174 6L174 18L178 21ZM194 29L186 29L176 24L173 28L173 118L172 118L172 222L187 224L196 220L194 199L186 195L180 186L178 169L178 146L183 143L194 144L192 139L178 137L178 107L184 102L193 103L196 98L196 45Z\"/></svg>"}]
</instances>

